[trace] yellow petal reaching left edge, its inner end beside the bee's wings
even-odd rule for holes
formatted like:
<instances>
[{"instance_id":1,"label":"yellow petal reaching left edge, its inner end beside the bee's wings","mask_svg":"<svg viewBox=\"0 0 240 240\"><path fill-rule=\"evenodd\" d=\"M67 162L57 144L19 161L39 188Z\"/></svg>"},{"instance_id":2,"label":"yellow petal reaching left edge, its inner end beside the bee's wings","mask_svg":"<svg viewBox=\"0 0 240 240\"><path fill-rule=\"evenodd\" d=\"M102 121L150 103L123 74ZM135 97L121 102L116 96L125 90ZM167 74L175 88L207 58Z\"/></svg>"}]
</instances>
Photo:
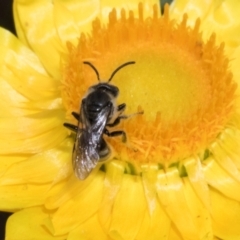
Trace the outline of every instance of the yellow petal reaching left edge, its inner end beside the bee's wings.
<instances>
[{"instance_id":1,"label":"yellow petal reaching left edge, its inner end beside the bee's wings","mask_svg":"<svg viewBox=\"0 0 240 240\"><path fill-rule=\"evenodd\" d=\"M72 172L72 141L65 140L57 148L33 155L25 161L17 162L7 169L2 177L2 185L24 183L47 183L62 180ZM36 167L37 166L37 167Z\"/></svg>"}]
</instances>

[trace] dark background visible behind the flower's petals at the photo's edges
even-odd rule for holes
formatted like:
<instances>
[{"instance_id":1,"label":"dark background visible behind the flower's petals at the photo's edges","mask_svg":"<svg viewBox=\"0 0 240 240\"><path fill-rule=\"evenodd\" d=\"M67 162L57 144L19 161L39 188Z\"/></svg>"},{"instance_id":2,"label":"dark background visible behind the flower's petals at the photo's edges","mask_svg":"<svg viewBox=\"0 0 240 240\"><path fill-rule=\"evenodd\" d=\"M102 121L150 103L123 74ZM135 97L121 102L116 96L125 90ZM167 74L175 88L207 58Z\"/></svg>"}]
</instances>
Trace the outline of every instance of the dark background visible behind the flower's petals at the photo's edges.
<instances>
[{"instance_id":1,"label":"dark background visible behind the flower's petals at the photo's edges","mask_svg":"<svg viewBox=\"0 0 240 240\"><path fill-rule=\"evenodd\" d=\"M171 3L173 0L162 0ZM10 30L15 34L15 28L12 17L12 0L0 0L0 26ZM10 213L0 212L0 240L4 240L5 224Z\"/></svg>"}]
</instances>

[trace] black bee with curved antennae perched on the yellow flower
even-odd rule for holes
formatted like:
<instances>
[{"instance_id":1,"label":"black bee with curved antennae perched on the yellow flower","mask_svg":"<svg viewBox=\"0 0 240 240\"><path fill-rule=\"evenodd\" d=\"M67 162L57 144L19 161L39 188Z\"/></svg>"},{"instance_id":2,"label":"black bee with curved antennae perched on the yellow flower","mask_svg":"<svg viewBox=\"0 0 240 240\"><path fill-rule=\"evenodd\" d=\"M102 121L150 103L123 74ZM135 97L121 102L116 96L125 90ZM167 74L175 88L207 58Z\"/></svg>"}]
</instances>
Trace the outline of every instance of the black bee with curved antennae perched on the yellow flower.
<instances>
[{"instance_id":1,"label":"black bee with curved antennae perched on the yellow flower","mask_svg":"<svg viewBox=\"0 0 240 240\"><path fill-rule=\"evenodd\" d=\"M114 127L119 124L121 119L128 117L123 115L126 104L116 104L119 94L118 87L110 82L121 68L135 64L134 61L122 64L105 82L100 80L98 70L92 63L86 61L83 63L94 70L99 83L88 89L86 96L82 99L80 113L72 112L73 117L78 120L78 126L64 123L65 127L76 133L72 162L75 175L80 180L86 179L97 163L110 155L111 150L104 140L103 134L108 137L122 136L122 141L126 142L124 131L110 132L108 130L108 127Z\"/></svg>"}]
</instances>

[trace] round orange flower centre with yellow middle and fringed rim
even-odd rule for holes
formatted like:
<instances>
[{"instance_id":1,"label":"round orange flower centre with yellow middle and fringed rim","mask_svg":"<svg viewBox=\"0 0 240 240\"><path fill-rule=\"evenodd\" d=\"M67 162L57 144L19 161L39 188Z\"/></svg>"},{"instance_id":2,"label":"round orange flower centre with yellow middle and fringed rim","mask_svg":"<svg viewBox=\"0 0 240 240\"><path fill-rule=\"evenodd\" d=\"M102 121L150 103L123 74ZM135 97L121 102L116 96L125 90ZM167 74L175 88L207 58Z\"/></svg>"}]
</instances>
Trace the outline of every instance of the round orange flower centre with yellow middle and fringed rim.
<instances>
[{"instance_id":1,"label":"round orange flower centre with yellow middle and fringed rim","mask_svg":"<svg viewBox=\"0 0 240 240\"><path fill-rule=\"evenodd\" d=\"M111 81L119 88L118 104L126 103L130 116L113 130L124 130L127 142L106 137L116 158L133 166L169 166L199 155L231 119L236 84L224 44L216 44L215 34L204 41L200 20L189 27L187 18L170 19L168 5L163 15L153 6L146 18L142 4L138 16L113 9L107 24L96 19L90 36L81 34L76 46L67 43L62 98L66 118L74 124L71 112L79 112L87 89L97 84L95 73L82 62L92 62L102 81L121 64L136 62ZM144 114L133 114L139 111Z\"/></svg>"}]
</instances>

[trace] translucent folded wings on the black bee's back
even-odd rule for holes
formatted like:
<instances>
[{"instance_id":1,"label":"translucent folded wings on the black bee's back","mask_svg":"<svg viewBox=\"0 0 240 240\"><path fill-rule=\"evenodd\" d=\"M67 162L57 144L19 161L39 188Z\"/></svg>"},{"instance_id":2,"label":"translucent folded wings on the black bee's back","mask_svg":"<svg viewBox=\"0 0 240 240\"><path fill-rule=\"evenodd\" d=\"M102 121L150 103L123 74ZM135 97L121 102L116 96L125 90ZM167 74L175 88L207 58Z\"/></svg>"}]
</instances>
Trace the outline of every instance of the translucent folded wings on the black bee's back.
<instances>
[{"instance_id":1,"label":"translucent folded wings on the black bee's back","mask_svg":"<svg viewBox=\"0 0 240 240\"><path fill-rule=\"evenodd\" d=\"M79 129L73 149L73 169L75 175L83 180L99 161L98 145L106 126L111 106L104 107L93 125L90 125L83 111L80 111ZM81 123L80 123L81 122ZM84 128L81 128L84 126Z\"/></svg>"}]
</instances>

